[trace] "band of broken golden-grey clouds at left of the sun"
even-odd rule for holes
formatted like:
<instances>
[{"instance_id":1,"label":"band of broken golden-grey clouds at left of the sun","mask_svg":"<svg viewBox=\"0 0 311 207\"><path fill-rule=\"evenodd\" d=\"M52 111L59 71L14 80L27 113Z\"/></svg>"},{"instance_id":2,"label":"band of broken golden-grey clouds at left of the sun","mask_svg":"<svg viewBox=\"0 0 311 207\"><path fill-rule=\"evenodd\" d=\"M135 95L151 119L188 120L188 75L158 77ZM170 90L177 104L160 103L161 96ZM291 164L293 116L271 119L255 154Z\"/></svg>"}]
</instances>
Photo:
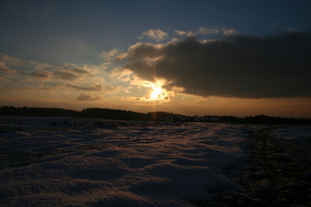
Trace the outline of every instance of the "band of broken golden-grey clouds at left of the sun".
<instances>
[{"instance_id":1,"label":"band of broken golden-grey clouds at left of the sun","mask_svg":"<svg viewBox=\"0 0 311 207\"><path fill-rule=\"evenodd\" d=\"M102 91L104 93L118 91L115 87L103 86L102 84L105 80L101 76L95 75L101 74L102 70L106 68L103 64L83 65L83 67L79 67L76 64L68 63L57 65L38 63L36 61L24 61L4 54L1 55L1 58L3 61L0 61L0 72L6 73L1 79L2 82L11 82L7 78L16 78L17 75L24 75L24 77L20 77L20 80L25 87L29 87L27 84L36 83L37 79L40 80L41 84L47 84L49 82L58 83L67 88L82 91ZM25 70L25 67L32 67L30 67L30 70L22 72L12 70L9 68L10 66L8 67L4 63L7 65L14 65L15 68L20 67L22 70ZM85 86L79 86L81 84ZM58 90L59 88L56 89Z\"/></svg>"}]
</instances>

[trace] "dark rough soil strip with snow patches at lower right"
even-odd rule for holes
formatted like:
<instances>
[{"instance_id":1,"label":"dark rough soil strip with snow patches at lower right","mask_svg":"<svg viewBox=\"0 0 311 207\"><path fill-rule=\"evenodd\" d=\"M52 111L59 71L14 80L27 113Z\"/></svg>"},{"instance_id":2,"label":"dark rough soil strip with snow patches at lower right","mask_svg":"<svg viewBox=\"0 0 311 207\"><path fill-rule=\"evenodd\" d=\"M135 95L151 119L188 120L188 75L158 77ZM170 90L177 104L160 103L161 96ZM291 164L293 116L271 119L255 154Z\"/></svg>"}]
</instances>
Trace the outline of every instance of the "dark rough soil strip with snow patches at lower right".
<instances>
[{"instance_id":1,"label":"dark rough soil strip with snow patches at lower right","mask_svg":"<svg viewBox=\"0 0 311 207\"><path fill-rule=\"evenodd\" d=\"M207 189L214 200L197 206L311 206L311 138L289 141L272 137L273 126L250 131L244 149L251 159L225 169L242 189Z\"/></svg>"}]
</instances>

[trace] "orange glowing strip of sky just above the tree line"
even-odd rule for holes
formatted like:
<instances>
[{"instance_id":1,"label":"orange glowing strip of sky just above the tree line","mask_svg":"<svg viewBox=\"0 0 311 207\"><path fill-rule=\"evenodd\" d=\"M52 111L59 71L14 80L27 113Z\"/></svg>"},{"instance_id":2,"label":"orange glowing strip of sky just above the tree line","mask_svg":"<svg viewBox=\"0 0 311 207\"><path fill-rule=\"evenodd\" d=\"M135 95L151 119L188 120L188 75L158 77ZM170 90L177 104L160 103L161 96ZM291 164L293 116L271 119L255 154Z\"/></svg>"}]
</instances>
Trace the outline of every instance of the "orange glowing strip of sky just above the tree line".
<instances>
[{"instance_id":1,"label":"orange glowing strip of sky just above the tree line","mask_svg":"<svg viewBox=\"0 0 311 207\"><path fill-rule=\"evenodd\" d=\"M77 101L63 99L43 98L16 98L8 99L0 97L0 106L15 107L56 107L81 111L83 108L98 107L121 110L132 110L136 112L166 111L186 116L204 115L232 115L236 117L268 115L274 117L288 118L311 118L311 98L273 98L273 99L242 99L242 98L221 98L209 97L199 99L196 102L188 103L188 99L195 97L189 95L178 95L173 102L157 103L145 101L128 101L124 103L119 100L96 100ZM184 102L183 102L184 101ZM187 105L184 103L188 103Z\"/></svg>"}]
</instances>

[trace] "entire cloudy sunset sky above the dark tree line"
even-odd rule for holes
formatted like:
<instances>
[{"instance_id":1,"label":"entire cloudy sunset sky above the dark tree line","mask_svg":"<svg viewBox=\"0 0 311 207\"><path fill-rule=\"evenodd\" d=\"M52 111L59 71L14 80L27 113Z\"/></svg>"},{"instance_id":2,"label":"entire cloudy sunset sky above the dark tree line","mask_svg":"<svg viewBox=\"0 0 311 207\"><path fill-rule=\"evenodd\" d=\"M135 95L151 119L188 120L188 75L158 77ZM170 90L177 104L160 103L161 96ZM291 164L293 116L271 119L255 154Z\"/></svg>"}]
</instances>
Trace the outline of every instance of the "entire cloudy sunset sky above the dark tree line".
<instances>
[{"instance_id":1,"label":"entire cloudy sunset sky above the dark tree line","mask_svg":"<svg viewBox=\"0 0 311 207\"><path fill-rule=\"evenodd\" d=\"M1 106L311 118L310 1L0 4Z\"/></svg>"}]
</instances>

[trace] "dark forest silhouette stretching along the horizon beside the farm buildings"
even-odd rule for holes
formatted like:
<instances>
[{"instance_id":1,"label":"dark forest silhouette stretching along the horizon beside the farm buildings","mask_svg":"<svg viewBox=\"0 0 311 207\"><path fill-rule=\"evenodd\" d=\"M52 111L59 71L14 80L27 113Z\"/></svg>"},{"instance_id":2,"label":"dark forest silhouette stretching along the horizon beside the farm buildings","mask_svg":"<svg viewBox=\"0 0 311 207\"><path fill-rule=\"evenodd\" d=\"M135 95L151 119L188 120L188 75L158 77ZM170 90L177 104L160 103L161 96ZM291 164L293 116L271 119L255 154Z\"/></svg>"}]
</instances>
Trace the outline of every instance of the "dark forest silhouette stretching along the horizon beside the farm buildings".
<instances>
[{"instance_id":1,"label":"dark forest silhouette stretching along the horizon beside the farm buildings","mask_svg":"<svg viewBox=\"0 0 311 207\"><path fill-rule=\"evenodd\" d=\"M133 121L158 121L173 113L164 111L155 111L148 113L134 112L130 110L109 109L109 108L86 108L82 111L68 110L63 108L42 108L42 107L14 107L1 106L0 115L16 115L16 116L70 116L77 118L100 118L114 120L133 120ZM183 115L179 115L185 117ZM267 115L246 116L239 118L235 116L211 116L218 117L222 121L234 124L288 124L288 125L311 125L311 119L295 119L286 117L273 117ZM194 121L194 116L191 117Z\"/></svg>"}]
</instances>

